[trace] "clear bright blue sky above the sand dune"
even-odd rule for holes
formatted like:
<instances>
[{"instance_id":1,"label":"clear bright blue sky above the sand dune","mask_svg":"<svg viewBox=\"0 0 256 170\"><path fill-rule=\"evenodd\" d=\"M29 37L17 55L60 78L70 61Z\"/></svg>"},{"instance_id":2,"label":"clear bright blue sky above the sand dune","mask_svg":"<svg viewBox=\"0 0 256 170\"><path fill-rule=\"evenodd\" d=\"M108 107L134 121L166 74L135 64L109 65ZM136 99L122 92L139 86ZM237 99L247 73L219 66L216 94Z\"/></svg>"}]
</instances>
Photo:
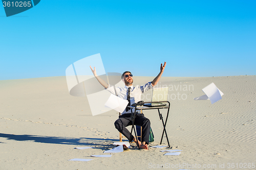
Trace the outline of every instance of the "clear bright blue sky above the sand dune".
<instances>
[{"instance_id":1,"label":"clear bright blue sky above the sand dune","mask_svg":"<svg viewBox=\"0 0 256 170\"><path fill-rule=\"evenodd\" d=\"M107 72L135 76L256 75L256 1L41 0L6 17L0 80L65 76L100 53Z\"/></svg>"}]
</instances>

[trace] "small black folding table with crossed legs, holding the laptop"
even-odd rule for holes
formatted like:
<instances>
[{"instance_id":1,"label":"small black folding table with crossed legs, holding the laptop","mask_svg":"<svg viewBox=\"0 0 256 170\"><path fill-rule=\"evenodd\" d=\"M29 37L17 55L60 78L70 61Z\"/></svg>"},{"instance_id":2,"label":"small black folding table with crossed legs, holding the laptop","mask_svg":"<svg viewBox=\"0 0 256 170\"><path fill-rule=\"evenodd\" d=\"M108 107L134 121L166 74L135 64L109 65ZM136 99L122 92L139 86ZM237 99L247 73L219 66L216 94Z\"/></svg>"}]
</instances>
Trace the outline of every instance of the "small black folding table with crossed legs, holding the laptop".
<instances>
[{"instance_id":1,"label":"small black folding table with crossed legs, holding the laptop","mask_svg":"<svg viewBox=\"0 0 256 170\"><path fill-rule=\"evenodd\" d=\"M142 106L140 107L141 105L143 104L146 104L146 103L152 103L152 104L160 104L160 103L166 103L165 106L153 106L153 107L146 107L146 106ZM139 145L138 143L138 138L137 138L137 134L136 134L136 131L135 131L135 127L134 127L134 122L135 122L135 115L136 115L136 110L151 110L151 109L157 109L158 110L158 115L159 115L159 118L160 120L162 120L162 124L163 124L163 133L162 133L162 137L161 137L161 141L160 141L160 144L162 144L162 140L163 140L163 135L165 133L165 136L166 136L166 139L167 139L167 142L168 142L168 146L170 148L170 144L169 144L169 140L168 140L168 136L167 136L167 132L166 132L166 123L167 123L167 119L168 119L168 115L169 115L169 109L170 109L170 103L168 101L159 101L159 102L138 102L136 103L135 106L128 106L129 108L131 108L131 111L133 109L135 109L135 112L133 113L132 111L132 130L131 130L131 134L133 133L133 130L134 130L134 133L135 133L135 137L136 137L136 140L137 140L137 146ZM167 114L166 114L166 118L165 118L165 122L163 120L163 116L162 116L162 113L160 113L160 109L167 109ZM132 135L131 135L132 137ZM131 141L131 139L130 139ZM139 149L139 148L138 148Z\"/></svg>"}]
</instances>

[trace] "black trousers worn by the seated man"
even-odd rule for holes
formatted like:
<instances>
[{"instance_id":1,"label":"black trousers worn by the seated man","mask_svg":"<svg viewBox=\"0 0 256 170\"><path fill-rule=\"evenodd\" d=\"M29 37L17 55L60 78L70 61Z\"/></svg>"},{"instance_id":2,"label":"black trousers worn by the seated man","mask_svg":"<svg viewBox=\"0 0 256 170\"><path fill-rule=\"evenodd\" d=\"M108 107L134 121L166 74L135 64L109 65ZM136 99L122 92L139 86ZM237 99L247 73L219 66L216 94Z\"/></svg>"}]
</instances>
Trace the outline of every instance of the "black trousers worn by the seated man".
<instances>
[{"instance_id":1,"label":"black trousers worn by the seated man","mask_svg":"<svg viewBox=\"0 0 256 170\"><path fill-rule=\"evenodd\" d=\"M132 134L125 127L130 125L132 125L131 113L120 115L119 119L117 119L115 122L116 129L129 140ZM150 119L146 118L144 114L136 113L134 125L142 126L141 141L145 141L146 144L148 144L150 138ZM133 138L134 136L132 135L131 141Z\"/></svg>"}]
</instances>

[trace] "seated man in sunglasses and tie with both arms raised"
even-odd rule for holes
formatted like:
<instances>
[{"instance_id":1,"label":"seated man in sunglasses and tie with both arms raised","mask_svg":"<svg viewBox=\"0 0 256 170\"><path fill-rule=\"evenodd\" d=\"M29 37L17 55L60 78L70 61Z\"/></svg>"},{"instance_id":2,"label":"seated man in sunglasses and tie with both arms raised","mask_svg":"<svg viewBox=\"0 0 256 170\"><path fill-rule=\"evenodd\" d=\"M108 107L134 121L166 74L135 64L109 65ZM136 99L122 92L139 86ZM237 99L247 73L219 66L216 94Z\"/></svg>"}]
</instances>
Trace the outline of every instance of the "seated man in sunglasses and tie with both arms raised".
<instances>
[{"instance_id":1,"label":"seated man in sunglasses and tie with both arms raised","mask_svg":"<svg viewBox=\"0 0 256 170\"><path fill-rule=\"evenodd\" d=\"M141 100L141 94L149 89L152 89L160 80L164 68L166 66L166 62L164 64L161 64L160 72L158 76L152 81L148 82L143 86L135 86L133 87L133 75L130 71L123 72L121 78L122 81L125 84L125 87L117 87L114 89L114 86L110 87L109 84L106 84L105 81L100 79L96 74L96 69L92 69L90 66L93 75L95 78L99 81L99 83L108 91L110 91L113 94L117 94L122 99L128 100L129 104L128 106L132 105L133 103L137 103ZM134 112L134 110L133 110ZM116 129L121 132L127 139L133 139L136 143L136 138L129 132L129 130L126 129L127 126L132 125L132 119L131 119L131 109L126 107L126 109L122 112L122 114L119 116L119 118L115 122ZM149 134L150 134L150 120L146 118L143 114L136 113L135 116L135 125L142 126L142 137L141 141L138 141L139 148L140 149L148 149L147 144L149 142ZM131 142L131 141L130 141Z\"/></svg>"}]
</instances>

